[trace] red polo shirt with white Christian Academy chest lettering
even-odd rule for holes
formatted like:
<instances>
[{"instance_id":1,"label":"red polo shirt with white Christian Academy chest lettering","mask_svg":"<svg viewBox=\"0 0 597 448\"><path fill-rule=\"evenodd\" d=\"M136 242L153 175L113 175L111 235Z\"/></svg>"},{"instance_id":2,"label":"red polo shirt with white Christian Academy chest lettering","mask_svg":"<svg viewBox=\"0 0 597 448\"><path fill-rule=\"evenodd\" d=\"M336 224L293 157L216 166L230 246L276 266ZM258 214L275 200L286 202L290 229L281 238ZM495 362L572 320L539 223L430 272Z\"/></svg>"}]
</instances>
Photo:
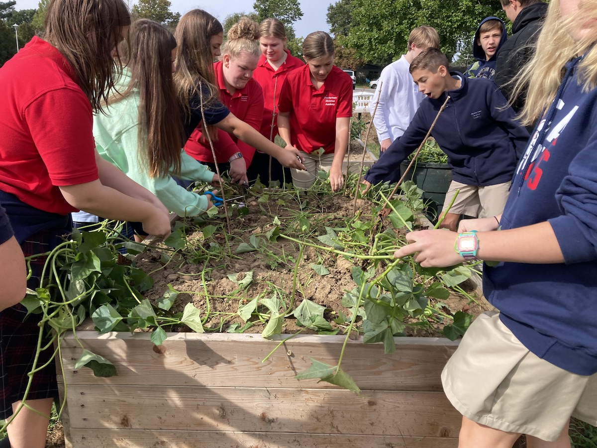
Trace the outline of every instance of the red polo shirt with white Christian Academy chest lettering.
<instances>
[{"instance_id":1,"label":"red polo shirt with white Christian Academy chest lettering","mask_svg":"<svg viewBox=\"0 0 597 448\"><path fill-rule=\"evenodd\" d=\"M290 112L291 143L310 154L336 145L336 118L352 116L352 79L333 66L324 85L311 82L309 65L288 73L280 92L279 112Z\"/></svg>"}]
</instances>

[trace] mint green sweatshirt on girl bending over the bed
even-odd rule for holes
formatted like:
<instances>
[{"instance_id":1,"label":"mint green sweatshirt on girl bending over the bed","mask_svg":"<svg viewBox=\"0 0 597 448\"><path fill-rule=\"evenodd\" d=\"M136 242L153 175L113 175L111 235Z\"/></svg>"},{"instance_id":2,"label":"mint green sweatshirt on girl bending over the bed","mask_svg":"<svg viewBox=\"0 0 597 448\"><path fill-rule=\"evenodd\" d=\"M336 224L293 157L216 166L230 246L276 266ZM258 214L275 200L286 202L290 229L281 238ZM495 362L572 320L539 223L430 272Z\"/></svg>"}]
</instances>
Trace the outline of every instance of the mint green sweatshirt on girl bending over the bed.
<instances>
[{"instance_id":1,"label":"mint green sweatshirt on girl bending over the bed","mask_svg":"<svg viewBox=\"0 0 597 448\"><path fill-rule=\"evenodd\" d=\"M130 79L130 73L124 69L116 88L124 91ZM195 216L206 210L207 196L187 191L178 185L170 174L149 177L147 170L140 164L137 155L139 94L133 91L127 98L110 103L106 113L107 116L100 112L93 117L93 136L102 158L116 165L128 177L155 194L168 210L177 215ZM183 149L180 153L181 179L211 182L214 177L213 171L187 155Z\"/></svg>"}]
</instances>

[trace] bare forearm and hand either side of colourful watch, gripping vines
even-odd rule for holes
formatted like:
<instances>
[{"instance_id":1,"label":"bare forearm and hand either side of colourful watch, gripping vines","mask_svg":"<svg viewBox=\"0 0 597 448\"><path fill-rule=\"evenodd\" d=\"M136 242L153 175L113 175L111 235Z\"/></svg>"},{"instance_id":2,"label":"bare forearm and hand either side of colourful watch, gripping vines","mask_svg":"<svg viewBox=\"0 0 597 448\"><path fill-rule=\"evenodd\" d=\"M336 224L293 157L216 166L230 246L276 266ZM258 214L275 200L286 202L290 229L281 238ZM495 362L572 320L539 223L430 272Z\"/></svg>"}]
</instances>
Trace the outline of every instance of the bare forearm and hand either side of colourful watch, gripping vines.
<instances>
[{"instance_id":1,"label":"bare forearm and hand either side of colourful watch, gripping vines","mask_svg":"<svg viewBox=\"0 0 597 448\"><path fill-rule=\"evenodd\" d=\"M485 218L489 220L494 219ZM495 221L495 220L494 220ZM401 258L416 254L421 266L453 266L463 258L454 250L456 232L425 230L407 234L410 243L398 249ZM549 222L499 232L478 232L477 257L486 261L514 263L563 263L564 256Z\"/></svg>"}]
</instances>

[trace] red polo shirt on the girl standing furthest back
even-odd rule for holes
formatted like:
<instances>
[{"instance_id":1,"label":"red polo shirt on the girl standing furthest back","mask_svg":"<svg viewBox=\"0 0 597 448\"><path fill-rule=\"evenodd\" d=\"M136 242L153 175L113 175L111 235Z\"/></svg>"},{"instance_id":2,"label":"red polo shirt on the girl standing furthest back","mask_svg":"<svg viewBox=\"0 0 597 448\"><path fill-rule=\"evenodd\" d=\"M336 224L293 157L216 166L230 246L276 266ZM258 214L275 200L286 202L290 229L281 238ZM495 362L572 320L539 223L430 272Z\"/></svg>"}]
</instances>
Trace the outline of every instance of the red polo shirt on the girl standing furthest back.
<instances>
[{"instance_id":1,"label":"red polo shirt on the girl standing furthest back","mask_svg":"<svg viewBox=\"0 0 597 448\"><path fill-rule=\"evenodd\" d=\"M274 70L272 66L267 62L266 57L261 54L257 68L253 72L253 79L259 82L263 89L263 119L261 120L261 134L269 140L270 135L273 137L278 135L278 97L280 90L282 90L282 84L288 73L292 70L302 67L304 62L297 57L291 56L290 51L286 52L286 60L278 67L278 70ZM273 119L273 133L272 133L272 113L273 106L276 106L276 116Z\"/></svg>"}]
</instances>

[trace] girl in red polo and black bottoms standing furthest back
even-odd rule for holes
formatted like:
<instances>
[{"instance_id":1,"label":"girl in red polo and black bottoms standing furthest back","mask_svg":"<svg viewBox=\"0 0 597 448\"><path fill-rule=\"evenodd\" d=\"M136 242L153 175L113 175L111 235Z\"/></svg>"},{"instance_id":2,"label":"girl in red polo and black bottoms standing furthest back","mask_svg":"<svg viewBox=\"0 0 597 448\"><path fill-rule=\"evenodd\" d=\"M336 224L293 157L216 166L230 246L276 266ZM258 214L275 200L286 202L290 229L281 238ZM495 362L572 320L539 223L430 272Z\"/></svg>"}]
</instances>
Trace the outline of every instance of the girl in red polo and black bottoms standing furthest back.
<instances>
[{"instance_id":1,"label":"girl in red polo and black bottoms standing furthest back","mask_svg":"<svg viewBox=\"0 0 597 448\"><path fill-rule=\"evenodd\" d=\"M278 100L282 84L291 70L302 67L304 63L291 56L290 51L285 48L286 30L284 24L278 19L265 19L259 26L259 33L262 54L253 72L253 79L259 82L263 89L264 108L260 132L273 142L278 135ZM261 182L269 185L270 169L271 180L278 180L280 183L290 182L290 170L284 169L276 159L259 151L253 156L253 163L248 169L247 176L250 182L259 176Z\"/></svg>"}]
</instances>

